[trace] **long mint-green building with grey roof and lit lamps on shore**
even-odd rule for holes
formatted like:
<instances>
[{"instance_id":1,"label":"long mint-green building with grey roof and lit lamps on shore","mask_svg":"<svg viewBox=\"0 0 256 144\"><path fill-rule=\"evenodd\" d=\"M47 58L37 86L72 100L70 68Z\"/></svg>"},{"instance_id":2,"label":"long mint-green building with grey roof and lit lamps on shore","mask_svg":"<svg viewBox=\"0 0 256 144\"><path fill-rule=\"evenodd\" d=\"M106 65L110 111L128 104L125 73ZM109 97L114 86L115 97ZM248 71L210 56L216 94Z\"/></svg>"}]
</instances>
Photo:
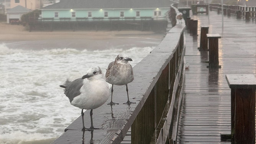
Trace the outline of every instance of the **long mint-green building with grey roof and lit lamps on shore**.
<instances>
[{"instance_id":1,"label":"long mint-green building with grey roof and lit lamps on shore","mask_svg":"<svg viewBox=\"0 0 256 144\"><path fill-rule=\"evenodd\" d=\"M41 8L41 16L36 20L38 23L93 26L164 26L171 4L169 0L61 0Z\"/></svg>"}]
</instances>

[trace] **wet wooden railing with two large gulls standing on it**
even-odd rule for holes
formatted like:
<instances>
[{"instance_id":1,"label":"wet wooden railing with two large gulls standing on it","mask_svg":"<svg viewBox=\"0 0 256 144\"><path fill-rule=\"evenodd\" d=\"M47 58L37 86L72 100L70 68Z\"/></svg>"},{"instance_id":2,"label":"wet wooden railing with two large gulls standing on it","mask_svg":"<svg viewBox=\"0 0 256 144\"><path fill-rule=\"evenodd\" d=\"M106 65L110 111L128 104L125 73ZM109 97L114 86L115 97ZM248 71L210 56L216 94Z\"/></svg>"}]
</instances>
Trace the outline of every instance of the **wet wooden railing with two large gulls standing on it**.
<instances>
[{"instance_id":1,"label":"wet wooden railing with two large gulls standing on it","mask_svg":"<svg viewBox=\"0 0 256 144\"><path fill-rule=\"evenodd\" d=\"M133 144L174 142L185 71L185 23L182 22L133 67L135 79L128 87L130 100L135 104L122 104L127 100L125 86L115 85L113 101L120 104L104 104L94 110L94 126L102 129L82 132L80 116L52 144L119 144L130 128ZM88 128L89 111L85 111L84 116Z\"/></svg>"}]
</instances>

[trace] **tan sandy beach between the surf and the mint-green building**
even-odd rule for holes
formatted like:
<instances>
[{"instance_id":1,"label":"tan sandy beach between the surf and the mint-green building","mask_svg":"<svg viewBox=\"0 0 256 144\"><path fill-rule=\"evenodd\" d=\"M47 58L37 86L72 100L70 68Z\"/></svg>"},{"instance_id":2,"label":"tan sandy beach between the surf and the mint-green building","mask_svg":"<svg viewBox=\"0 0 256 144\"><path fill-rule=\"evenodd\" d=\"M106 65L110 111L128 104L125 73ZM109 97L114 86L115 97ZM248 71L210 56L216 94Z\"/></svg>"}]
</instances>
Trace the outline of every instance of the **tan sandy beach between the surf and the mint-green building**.
<instances>
[{"instance_id":1,"label":"tan sandy beach between the surf and the mint-green building","mask_svg":"<svg viewBox=\"0 0 256 144\"><path fill-rule=\"evenodd\" d=\"M160 43L164 33L153 31L107 31L107 30L58 30L58 31L27 31L22 25L0 23L0 43L19 43L29 41L29 45L37 44L38 48L51 48L58 44L76 49L104 49L104 47L147 47ZM44 45L43 47L42 44ZM154 45L154 44L153 44ZM9 47L19 48L19 47Z\"/></svg>"}]
</instances>

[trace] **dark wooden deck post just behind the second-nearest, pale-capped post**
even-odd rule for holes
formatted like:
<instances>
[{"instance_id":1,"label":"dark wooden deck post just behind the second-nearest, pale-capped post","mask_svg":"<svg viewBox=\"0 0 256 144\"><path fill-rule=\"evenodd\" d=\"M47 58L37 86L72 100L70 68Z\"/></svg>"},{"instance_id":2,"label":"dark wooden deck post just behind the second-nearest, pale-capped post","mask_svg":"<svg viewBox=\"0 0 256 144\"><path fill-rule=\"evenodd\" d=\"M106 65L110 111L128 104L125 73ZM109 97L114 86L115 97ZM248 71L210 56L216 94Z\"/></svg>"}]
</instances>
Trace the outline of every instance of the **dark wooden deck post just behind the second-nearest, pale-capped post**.
<instances>
[{"instance_id":1,"label":"dark wooden deck post just behind the second-nearest, pale-capped post","mask_svg":"<svg viewBox=\"0 0 256 144\"><path fill-rule=\"evenodd\" d=\"M200 37L200 47L199 51L208 51L208 39L206 34L208 34L208 26L201 26L201 37Z\"/></svg>"}]
</instances>

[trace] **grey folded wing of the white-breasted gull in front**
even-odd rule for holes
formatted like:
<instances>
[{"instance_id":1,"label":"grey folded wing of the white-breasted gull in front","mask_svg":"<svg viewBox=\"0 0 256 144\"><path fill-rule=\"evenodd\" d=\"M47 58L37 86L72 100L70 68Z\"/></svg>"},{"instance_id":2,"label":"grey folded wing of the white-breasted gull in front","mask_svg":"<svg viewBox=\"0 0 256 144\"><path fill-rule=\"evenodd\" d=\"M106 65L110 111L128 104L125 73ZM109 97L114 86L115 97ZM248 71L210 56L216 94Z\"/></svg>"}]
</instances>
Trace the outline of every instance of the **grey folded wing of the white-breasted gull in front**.
<instances>
[{"instance_id":1,"label":"grey folded wing of the white-breasted gull in front","mask_svg":"<svg viewBox=\"0 0 256 144\"><path fill-rule=\"evenodd\" d=\"M74 97L81 94L80 88L83 86L83 79L75 79L74 81L65 83L64 85L66 86L64 89L64 94L69 98L69 101L71 102Z\"/></svg>"}]
</instances>

